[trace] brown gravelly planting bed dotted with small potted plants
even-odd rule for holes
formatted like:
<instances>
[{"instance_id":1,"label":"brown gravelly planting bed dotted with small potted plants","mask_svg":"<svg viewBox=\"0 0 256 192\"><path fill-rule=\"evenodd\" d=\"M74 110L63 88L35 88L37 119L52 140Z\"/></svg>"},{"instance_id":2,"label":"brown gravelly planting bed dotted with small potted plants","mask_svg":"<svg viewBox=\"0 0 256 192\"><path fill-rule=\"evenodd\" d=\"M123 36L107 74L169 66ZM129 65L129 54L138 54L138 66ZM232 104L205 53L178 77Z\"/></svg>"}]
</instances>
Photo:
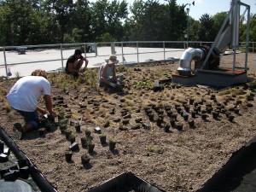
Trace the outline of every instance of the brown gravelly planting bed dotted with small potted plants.
<instances>
[{"instance_id":1,"label":"brown gravelly planting bed dotted with small potted plants","mask_svg":"<svg viewBox=\"0 0 256 192\"><path fill-rule=\"evenodd\" d=\"M220 66L232 66L233 57L224 55ZM244 61L243 53L236 55L238 67ZM255 61L249 54L247 84L221 90L172 84L166 79L178 62L171 61L119 66L122 90L98 88L97 69L76 79L50 73L59 118L42 119L44 131L22 140L14 125L24 121L5 98L17 79L2 79L0 125L58 191L86 191L126 171L166 191L196 191L255 134ZM166 81L154 91L154 80ZM110 142L116 142L111 150Z\"/></svg>"}]
</instances>

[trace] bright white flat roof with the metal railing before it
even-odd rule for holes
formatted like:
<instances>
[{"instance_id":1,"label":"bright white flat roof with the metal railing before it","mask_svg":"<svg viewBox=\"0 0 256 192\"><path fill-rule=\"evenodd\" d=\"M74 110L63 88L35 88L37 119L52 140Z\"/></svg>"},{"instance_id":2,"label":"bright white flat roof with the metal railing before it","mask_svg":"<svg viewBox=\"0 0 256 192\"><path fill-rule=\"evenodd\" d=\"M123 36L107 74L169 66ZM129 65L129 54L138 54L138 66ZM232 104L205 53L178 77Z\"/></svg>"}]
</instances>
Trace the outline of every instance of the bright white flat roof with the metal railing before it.
<instances>
[{"instance_id":1,"label":"bright white flat roof with the metal railing before it","mask_svg":"<svg viewBox=\"0 0 256 192\"><path fill-rule=\"evenodd\" d=\"M12 73L19 73L20 76L30 74L37 68L47 71L63 70L65 61L77 48L85 50L84 55L90 61L89 67L98 67L110 54L117 55L120 63L123 64L166 61L179 58L188 45L199 47L204 44L210 45L212 42L187 44L186 41L135 41L4 46L0 47L0 76L8 77L10 69ZM244 44L241 43L240 49L244 49ZM250 51L254 52L255 44L255 42L249 43Z\"/></svg>"}]
</instances>

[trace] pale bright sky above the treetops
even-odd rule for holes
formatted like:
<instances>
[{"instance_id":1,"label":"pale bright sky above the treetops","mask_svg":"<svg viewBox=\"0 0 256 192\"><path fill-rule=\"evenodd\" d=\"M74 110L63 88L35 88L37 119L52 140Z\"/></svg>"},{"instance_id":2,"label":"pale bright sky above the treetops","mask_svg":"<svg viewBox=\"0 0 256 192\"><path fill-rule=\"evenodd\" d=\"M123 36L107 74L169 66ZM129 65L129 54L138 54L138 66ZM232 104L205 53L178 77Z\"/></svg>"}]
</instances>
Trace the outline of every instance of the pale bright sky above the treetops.
<instances>
[{"instance_id":1,"label":"pale bright sky above the treetops","mask_svg":"<svg viewBox=\"0 0 256 192\"><path fill-rule=\"evenodd\" d=\"M217 13L230 10L230 0L195 0L195 6L192 5L193 1L194 0L177 0L176 3L178 5L190 3L191 5L189 9L189 16L195 20L199 20L199 18L201 18L201 15L204 14L213 16ZM96 0L92 0L90 2L96 2ZM134 0L126 0L126 2L132 5ZM159 0L159 3L166 3L166 1ZM241 3L246 3L247 5L250 5L250 13L256 14L256 0L241 0ZM189 8L189 5L185 7L185 9L187 8ZM244 10L245 7L241 6L241 15L243 14Z\"/></svg>"}]
</instances>

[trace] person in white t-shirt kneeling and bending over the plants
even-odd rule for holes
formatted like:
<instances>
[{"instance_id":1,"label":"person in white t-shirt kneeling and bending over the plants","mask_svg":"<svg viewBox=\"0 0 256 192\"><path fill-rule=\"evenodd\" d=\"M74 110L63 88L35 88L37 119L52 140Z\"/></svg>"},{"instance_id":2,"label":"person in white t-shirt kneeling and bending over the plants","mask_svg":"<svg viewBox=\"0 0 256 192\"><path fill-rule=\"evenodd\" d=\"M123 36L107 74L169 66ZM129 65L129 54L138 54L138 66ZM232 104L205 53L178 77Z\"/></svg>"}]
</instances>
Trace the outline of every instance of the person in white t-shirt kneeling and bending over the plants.
<instances>
[{"instance_id":1,"label":"person in white t-shirt kneeling and bending over the plants","mask_svg":"<svg viewBox=\"0 0 256 192\"><path fill-rule=\"evenodd\" d=\"M44 96L46 109L38 107L38 100ZM19 79L7 95L9 105L20 113L26 125L22 133L38 128L38 112L45 114L47 111L55 115L50 96L50 84L44 70L35 70L31 76Z\"/></svg>"}]
</instances>

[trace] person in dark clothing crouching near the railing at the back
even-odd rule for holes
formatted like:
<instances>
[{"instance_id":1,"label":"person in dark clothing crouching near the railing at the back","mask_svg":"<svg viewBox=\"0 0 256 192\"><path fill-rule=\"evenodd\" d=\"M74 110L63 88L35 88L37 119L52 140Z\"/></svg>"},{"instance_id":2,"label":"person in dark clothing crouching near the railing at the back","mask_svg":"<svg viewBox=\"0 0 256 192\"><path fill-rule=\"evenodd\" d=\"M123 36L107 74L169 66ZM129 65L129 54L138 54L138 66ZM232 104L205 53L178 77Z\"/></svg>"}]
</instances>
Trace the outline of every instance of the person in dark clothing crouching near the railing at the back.
<instances>
[{"instance_id":1,"label":"person in dark clothing crouching near the railing at the back","mask_svg":"<svg viewBox=\"0 0 256 192\"><path fill-rule=\"evenodd\" d=\"M85 62L84 68L82 68L83 62ZM65 72L75 76L79 73L83 73L87 68L88 62L89 61L82 55L82 50L75 49L74 54L67 59Z\"/></svg>"}]
</instances>

